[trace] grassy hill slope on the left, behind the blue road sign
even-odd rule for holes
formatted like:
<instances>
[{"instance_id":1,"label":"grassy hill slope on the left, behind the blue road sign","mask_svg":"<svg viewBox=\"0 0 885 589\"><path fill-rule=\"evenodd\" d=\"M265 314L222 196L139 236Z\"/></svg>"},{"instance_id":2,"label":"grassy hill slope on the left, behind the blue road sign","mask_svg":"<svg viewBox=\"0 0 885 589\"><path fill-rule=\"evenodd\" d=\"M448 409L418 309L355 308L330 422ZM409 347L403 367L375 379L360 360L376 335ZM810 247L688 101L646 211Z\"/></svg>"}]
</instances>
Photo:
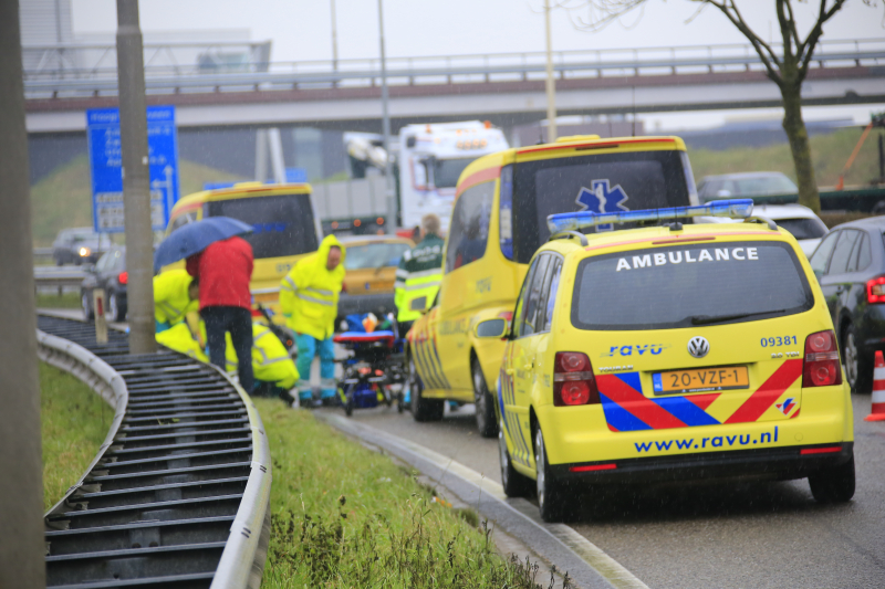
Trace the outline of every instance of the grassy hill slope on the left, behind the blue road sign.
<instances>
[{"instance_id":1,"label":"grassy hill slope on the left, behind the blue road sign","mask_svg":"<svg viewBox=\"0 0 885 589\"><path fill-rule=\"evenodd\" d=\"M202 190L205 182L232 182L238 176L181 160L181 196ZM52 244L60 230L92 225L90 160L85 154L31 187L31 229L35 246Z\"/></svg>"}]
</instances>

